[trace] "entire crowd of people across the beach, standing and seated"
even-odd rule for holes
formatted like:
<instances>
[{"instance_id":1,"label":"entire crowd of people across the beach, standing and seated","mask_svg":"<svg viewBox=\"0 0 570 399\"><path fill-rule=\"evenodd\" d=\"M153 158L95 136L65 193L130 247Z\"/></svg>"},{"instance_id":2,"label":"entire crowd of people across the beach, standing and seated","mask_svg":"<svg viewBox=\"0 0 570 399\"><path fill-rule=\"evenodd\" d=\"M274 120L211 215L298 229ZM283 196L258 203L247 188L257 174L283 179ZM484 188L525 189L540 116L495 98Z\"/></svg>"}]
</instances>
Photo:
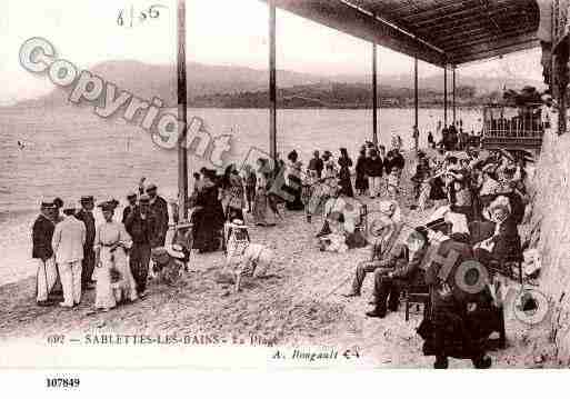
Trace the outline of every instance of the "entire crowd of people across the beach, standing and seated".
<instances>
[{"instance_id":1,"label":"entire crowd of people across the beach, standing and seated","mask_svg":"<svg viewBox=\"0 0 570 399\"><path fill-rule=\"evenodd\" d=\"M450 141L449 148L454 146ZM261 228L276 226L283 219L284 205L288 211L303 212L307 223L312 222L313 216L322 216L317 233L321 251L344 252L371 243L370 258L358 263L346 293L360 296L367 273L373 273L373 309L366 313L368 317L383 318L388 311L397 310L406 287L430 287L429 311L422 325L429 326L423 331L428 331L426 346L436 355L434 366L447 367L448 356L454 353L449 342L460 339L463 355L476 367L490 367L481 343L492 330L492 326L486 327L494 303L490 286L477 295L466 295L453 277L441 277L441 265L427 261L427 253L436 248L439 259L444 259L453 251L454 268L474 259L490 276L503 273L509 261L520 261L518 226L527 203L527 159L503 150L483 158L469 147L444 153L441 149L433 157L418 150L416 173L411 177L416 208L426 211L432 207L433 215L430 222L416 226L400 242L399 233L406 225L400 188L407 162L400 147L399 138L392 140L388 151L367 141L356 162L346 148L339 149L337 159L328 150L322 154L316 150L307 168L296 150L288 153L287 162L279 157L260 158L254 167L246 164L241 171L234 164L221 174L202 168L193 176L193 192L188 199L188 248L166 245L167 202L157 194L154 184L144 188L143 180L139 192L127 196L129 205L120 222L113 219L118 201L99 205L103 222L97 228L92 197L82 197L79 210L73 202L62 203L59 199L42 202L32 232L38 305L49 305L58 277L62 307L79 305L81 292L93 286L97 309L109 310L121 301L134 301L146 293L153 255L158 259L167 251L187 261L192 249L200 253L220 250L228 240L224 226L242 229L248 221ZM378 206L380 215L370 229L363 228L367 201ZM178 212L172 213L178 222ZM249 236L244 237L249 241Z\"/></svg>"}]
</instances>

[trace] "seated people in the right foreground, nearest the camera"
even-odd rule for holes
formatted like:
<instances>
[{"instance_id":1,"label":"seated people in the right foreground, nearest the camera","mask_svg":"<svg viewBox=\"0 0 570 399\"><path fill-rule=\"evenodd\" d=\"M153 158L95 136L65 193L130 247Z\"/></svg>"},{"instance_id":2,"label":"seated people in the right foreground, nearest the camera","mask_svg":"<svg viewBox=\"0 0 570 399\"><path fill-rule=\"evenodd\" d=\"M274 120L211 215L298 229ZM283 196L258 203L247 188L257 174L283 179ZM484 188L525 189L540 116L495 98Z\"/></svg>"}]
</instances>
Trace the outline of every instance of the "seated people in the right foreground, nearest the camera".
<instances>
[{"instance_id":1,"label":"seated people in the right foreground, nearest the camera","mask_svg":"<svg viewBox=\"0 0 570 399\"><path fill-rule=\"evenodd\" d=\"M391 203L384 209L382 217L374 220L372 233L377 240L370 259L357 266L352 287L344 296L360 296L366 275L373 273L373 309L366 315L384 318L388 311L398 310L402 290L424 286L430 292L424 323L431 327L423 337L424 352L436 355L436 368L447 368L448 356L458 357L453 349L458 339L462 342L460 357L472 359L477 368L490 367L483 342L497 327L494 286L484 281L484 289L472 293L458 283L457 273L464 271L460 266L466 261L476 261L486 268L477 276L494 279L504 273L501 267L507 260L520 255L520 237L509 199L498 196L486 208L489 220L470 223L464 215L442 207L430 222L416 227L403 243L396 243L402 229L397 206ZM442 275L441 269L448 272ZM472 276L466 279L472 280Z\"/></svg>"}]
</instances>

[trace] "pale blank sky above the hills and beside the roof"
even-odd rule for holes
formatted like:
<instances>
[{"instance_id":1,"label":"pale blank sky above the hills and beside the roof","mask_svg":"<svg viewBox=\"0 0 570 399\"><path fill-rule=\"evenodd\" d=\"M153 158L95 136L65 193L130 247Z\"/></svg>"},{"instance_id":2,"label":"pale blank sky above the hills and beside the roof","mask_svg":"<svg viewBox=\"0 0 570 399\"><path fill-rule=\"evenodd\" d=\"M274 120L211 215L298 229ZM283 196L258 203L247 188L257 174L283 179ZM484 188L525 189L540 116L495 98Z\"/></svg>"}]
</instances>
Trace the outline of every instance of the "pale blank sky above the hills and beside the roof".
<instances>
[{"instance_id":1,"label":"pale blank sky above the hills and beside the roof","mask_svg":"<svg viewBox=\"0 0 570 399\"><path fill-rule=\"evenodd\" d=\"M174 0L4 0L0 12L0 104L33 98L53 89L43 76L19 64L21 44L48 39L59 57L80 69L107 60L176 62ZM152 4L160 16L134 21ZM123 24L119 26L122 11ZM371 44L286 11L277 12L279 69L319 76L370 73ZM208 64L268 68L268 7L260 0L187 0L187 60ZM531 57L529 57L531 56ZM409 73L413 61L379 48L379 73ZM420 76L441 69L420 62ZM541 80L540 52L531 50L459 69L474 76L527 76ZM191 79L191 77L188 77Z\"/></svg>"}]
</instances>

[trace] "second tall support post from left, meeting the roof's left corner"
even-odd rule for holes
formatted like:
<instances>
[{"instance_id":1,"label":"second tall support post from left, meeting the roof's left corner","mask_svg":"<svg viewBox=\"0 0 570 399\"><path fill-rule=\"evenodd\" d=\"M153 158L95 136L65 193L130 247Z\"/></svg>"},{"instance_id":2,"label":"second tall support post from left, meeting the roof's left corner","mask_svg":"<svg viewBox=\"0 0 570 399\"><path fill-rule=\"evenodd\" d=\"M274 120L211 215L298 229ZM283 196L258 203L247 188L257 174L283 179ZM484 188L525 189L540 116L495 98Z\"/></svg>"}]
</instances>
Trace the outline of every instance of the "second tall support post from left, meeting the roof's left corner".
<instances>
[{"instance_id":1,"label":"second tall support post from left, meeting the roof's left corner","mask_svg":"<svg viewBox=\"0 0 570 399\"><path fill-rule=\"evenodd\" d=\"M269 154L277 162L277 64L276 64L276 3L269 6ZM277 164L276 164L277 167Z\"/></svg>"}]
</instances>

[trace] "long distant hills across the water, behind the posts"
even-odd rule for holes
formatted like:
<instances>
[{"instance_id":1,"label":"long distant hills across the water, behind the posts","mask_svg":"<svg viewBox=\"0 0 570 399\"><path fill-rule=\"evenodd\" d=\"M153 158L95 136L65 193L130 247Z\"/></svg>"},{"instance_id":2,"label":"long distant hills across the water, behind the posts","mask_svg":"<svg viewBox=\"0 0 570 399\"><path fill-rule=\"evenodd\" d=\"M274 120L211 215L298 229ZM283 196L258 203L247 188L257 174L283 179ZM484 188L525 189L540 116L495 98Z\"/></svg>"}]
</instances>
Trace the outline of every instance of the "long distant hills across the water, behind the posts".
<instances>
[{"instance_id":1,"label":"long distant hills across the water, behind the posts","mask_svg":"<svg viewBox=\"0 0 570 399\"><path fill-rule=\"evenodd\" d=\"M176 66L148 64L139 61L107 61L90 69L122 90L129 90L143 99L159 97L167 106L176 104ZM188 100L190 106L240 107L258 104L267 107L269 72L243 67L220 67L189 62L187 66ZM286 107L366 107L370 92L370 76L336 76L326 78L293 71L278 71L278 87L281 102ZM344 86L342 86L344 84ZM348 84L348 86L347 86ZM411 76L381 76L379 91L382 98L400 98L407 102L413 81ZM479 94L498 89L541 88L540 82L518 77L486 78L461 74L458 86L472 86ZM351 86L351 88L349 88ZM420 79L420 98L433 92L442 92L442 77L431 76ZM293 92L287 89L294 88ZM449 88L450 89L450 88ZM283 91L284 90L284 91ZM337 91L334 91L337 90ZM340 90L340 91L339 91ZM408 91L406 91L408 90ZM349 93L350 92L350 93ZM257 94L251 94L257 93ZM368 93L368 94L367 94ZM344 96L344 97L342 97ZM20 102L20 107L57 107L66 104L68 92L54 88L52 92L38 99ZM244 99L248 97L247 99ZM256 98L257 97L257 98ZM394 103L398 106L398 103Z\"/></svg>"}]
</instances>

